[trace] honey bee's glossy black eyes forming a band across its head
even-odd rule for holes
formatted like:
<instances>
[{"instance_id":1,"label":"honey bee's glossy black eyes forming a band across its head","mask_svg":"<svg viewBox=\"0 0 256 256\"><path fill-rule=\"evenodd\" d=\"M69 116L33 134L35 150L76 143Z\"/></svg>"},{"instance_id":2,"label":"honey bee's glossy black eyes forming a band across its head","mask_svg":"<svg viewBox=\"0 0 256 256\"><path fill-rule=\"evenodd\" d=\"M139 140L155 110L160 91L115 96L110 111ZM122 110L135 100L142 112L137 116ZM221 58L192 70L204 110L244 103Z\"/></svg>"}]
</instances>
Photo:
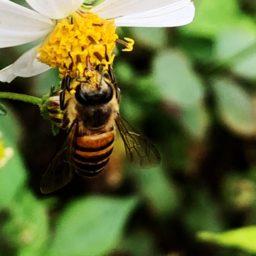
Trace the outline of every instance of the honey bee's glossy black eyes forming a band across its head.
<instances>
[{"instance_id":1,"label":"honey bee's glossy black eyes forming a band across its head","mask_svg":"<svg viewBox=\"0 0 256 256\"><path fill-rule=\"evenodd\" d=\"M83 92L81 85L76 87L75 98L82 105L105 104L110 102L113 97L113 89L107 85L107 90L97 90L92 92Z\"/></svg>"}]
</instances>

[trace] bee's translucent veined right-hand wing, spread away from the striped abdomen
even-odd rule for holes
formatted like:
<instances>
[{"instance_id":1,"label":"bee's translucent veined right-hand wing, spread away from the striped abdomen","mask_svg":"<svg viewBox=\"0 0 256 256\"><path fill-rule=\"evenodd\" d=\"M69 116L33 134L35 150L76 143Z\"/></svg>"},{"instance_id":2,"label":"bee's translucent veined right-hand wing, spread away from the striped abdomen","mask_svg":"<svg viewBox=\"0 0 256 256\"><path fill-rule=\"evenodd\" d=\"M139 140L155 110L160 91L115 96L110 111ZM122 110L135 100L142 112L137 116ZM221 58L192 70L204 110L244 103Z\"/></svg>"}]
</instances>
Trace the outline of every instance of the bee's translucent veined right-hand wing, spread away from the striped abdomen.
<instances>
[{"instance_id":1,"label":"bee's translucent veined right-hand wing, spread away from the striped abdomen","mask_svg":"<svg viewBox=\"0 0 256 256\"><path fill-rule=\"evenodd\" d=\"M149 139L137 132L121 116L115 120L124 141L127 158L140 168L149 168L160 164L159 151Z\"/></svg>"}]
</instances>

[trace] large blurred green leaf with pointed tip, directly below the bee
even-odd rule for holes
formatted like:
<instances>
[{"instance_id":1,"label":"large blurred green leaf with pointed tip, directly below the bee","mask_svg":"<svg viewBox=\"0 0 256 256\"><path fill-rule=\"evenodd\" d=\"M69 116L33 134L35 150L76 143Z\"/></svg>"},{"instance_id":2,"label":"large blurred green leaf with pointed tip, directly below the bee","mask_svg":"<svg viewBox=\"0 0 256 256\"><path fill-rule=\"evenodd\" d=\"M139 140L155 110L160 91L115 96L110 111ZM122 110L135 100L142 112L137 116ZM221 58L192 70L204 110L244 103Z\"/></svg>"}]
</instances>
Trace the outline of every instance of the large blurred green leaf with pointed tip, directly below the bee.
<instances>
[{"instance_id":1,"label":"large blurred green leaf with pointed tip, directly below the bee","mask_svg":"<svg viewBox=\"0 0 256 256\"><path fill-rule=\"evenodd\" d=\"M47 255L101 256L117 247L137 199L88 196L70 203L60 216Z\"/></svg>"}]
</instances>

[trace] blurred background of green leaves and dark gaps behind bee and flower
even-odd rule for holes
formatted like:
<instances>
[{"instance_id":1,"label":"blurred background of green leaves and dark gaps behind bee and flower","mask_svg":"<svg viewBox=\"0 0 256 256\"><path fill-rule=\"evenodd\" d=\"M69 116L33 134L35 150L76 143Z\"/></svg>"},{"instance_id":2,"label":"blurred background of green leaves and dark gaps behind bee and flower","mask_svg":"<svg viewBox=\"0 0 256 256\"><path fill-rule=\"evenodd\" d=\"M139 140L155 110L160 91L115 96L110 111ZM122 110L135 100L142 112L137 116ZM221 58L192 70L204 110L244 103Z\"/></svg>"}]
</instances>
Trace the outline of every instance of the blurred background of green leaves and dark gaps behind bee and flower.
<instances>
[{"instance_id":1,"label":"blurred background of green leaves and dark gaps behind bee and flower","mask_svg":"<svg viewBox=\"0 0 256 256\"><path fill-rule=\"evenodd\" d=\"M159 168L134 169L117 139L100 176L42 195L65 132L1 100L14 156L0 170L0 255L256 255L256 2L194 3L181 28L118 28L136 43L114 62L121 113L157 146ZM1 49L0 68L28 48ZM50 70L1 91L41 97L58 82Z\"/></svg>"}]
</instances>

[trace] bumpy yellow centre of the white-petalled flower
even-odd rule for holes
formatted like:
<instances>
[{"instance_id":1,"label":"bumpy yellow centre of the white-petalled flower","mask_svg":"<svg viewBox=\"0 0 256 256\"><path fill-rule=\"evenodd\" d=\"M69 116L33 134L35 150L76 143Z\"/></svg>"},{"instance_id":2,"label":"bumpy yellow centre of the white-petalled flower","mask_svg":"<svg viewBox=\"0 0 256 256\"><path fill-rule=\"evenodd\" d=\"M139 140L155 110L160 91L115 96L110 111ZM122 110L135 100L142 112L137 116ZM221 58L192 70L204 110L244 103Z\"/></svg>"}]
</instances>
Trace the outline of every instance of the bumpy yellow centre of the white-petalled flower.
<instances>
[{"instance_id":1,"label":"bumpy yellow centre of the white-petalled flower","mask_svg":"<svg viewBox=\"0 0 256 256\"><path fill-rule=\"evenodd\" d=\"M68 73L71 78L83 80L91 76L90 70L96 65L112 64L118 38L115 31L114 21L92 13L75 12L58 21L38 48L37 58L53 68L58 67L60 78Z\"/></svg>"}]
</instances>

